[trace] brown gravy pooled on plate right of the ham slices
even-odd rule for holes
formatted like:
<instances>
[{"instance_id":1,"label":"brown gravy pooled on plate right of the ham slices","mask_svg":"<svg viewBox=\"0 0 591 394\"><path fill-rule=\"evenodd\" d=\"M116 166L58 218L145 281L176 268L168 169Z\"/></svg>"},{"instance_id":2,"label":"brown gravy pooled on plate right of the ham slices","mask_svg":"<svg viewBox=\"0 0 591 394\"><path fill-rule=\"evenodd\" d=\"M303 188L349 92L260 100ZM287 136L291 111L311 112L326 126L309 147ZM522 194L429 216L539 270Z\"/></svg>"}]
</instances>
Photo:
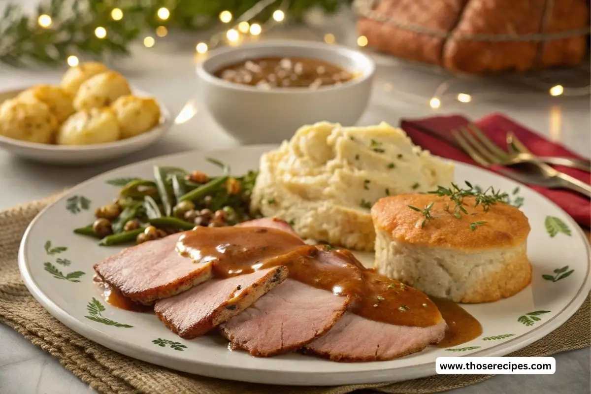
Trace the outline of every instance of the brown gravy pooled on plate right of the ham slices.
<instances>
[{"instance_id":1,"label":"brown gravy pooled on plate right of the ham slices","mask_svg":"<svg viewBox=\"0 0 591 394\"><path fill-rule=\"evenodd\" d=\"M482 334L482 325L475 317L470 315L464 308L455 302L446 299L431 298L447 323L447 331L443 340L437 347L457 346Z\"/></svg>"}]
</instances>

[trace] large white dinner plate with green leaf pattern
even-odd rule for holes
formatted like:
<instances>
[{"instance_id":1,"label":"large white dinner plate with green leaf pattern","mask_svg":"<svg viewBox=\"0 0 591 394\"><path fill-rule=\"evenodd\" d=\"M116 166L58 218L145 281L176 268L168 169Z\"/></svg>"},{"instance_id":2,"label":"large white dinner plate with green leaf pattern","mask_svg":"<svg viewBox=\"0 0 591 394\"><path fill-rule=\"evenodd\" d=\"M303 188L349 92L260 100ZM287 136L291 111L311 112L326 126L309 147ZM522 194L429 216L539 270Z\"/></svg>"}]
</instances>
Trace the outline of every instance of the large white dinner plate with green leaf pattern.
<instances>
[{"instance_id":1,"label":"large white dinner plate with green leaf pattern","mask_svg":"<svg viewBox=\"0 0 591 394\"><path fill-rule=\"evenodd\" d=\"M534 266L530 286L514 297L488 304L463 305L482 324L481 336L452 349L428 347L387 362L336 363L291 353L272 358L230 351L215 335L183 340L157 317L112 307L93 286L92 266L119 247L98 246L76 235L75 227L93 220L96 207L118 192L107 181L152 178L153 165L173 165L219 174L205 161L213 157L234 172L256 169L272 145L243 146L212 152L186 152L150 159L92 178L44 209L27 229L19 267L30 292L54 317L77 333L135 359L184 372L222 379L282 385L343 385L395 382L435 375L438 356L503 356L556 330L583 303L589 292L589 247L579 226L540 194L492 172L456 163L456 181L512 193L524 198L522 210L531 224L528 256ZM238 174L236 174L238 175ZM371 255L359 255L371 264ZM56 273L56 270L59 273ZM92 308L93 298L100 307ZM104 308L104 309L103 309ZM109 323L109 324L105 324ZM116 323L116 324L115 324Z\"/></svg>"}]
</instances>

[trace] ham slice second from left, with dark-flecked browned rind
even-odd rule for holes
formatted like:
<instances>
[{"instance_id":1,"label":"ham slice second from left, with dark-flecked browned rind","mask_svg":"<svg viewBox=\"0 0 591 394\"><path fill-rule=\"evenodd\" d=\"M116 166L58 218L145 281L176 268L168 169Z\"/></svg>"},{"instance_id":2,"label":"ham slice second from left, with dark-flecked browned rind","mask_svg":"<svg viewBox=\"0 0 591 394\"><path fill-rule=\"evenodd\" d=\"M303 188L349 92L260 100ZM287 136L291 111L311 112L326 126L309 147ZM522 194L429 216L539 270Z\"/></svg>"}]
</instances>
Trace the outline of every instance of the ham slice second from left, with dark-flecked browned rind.
<instances>
[{"instance_id":1,"label":"ham slice second from left, with dark-flecked browned rind","mask_svg":"<svg viewBox=\"0 0 591 394\"><path fill-rule=\"evenodd\" d=\"M193 339L239 314L287 277L287 268L273 268L212 279L174 297L161 299L154 312L174 333Z\"/></svg>"}]
</instances>

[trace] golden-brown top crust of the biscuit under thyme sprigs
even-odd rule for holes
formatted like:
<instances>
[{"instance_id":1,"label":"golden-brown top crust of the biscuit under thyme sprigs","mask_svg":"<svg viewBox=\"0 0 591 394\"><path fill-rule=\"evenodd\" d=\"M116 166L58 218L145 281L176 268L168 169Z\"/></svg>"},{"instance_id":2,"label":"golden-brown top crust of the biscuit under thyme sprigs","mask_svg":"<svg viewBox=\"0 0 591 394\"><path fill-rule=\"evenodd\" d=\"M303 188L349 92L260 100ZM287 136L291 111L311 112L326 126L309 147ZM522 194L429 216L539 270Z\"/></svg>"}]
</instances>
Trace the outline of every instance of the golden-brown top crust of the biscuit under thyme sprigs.
<instances>
[{"instance_id":1,"label":"golden-brown top crust of the biscuit under thyme sprigs","mask_svg":"<svg viewBox=\"0 0 591 394\"><path fill-rule=\"evenodd\" d=\"M425 210L431 203L431 219L426 219L424 211L409 207ZM448 196L409 193L381 198L371 214L376 232L385 231L392 240L441 248L513 248L530 233L525 214L509 204L497 202L485 210L481 204L476 206L476 197L467 196L460 217L454 215L455 206Z\"/></svg>"}]
</instances>

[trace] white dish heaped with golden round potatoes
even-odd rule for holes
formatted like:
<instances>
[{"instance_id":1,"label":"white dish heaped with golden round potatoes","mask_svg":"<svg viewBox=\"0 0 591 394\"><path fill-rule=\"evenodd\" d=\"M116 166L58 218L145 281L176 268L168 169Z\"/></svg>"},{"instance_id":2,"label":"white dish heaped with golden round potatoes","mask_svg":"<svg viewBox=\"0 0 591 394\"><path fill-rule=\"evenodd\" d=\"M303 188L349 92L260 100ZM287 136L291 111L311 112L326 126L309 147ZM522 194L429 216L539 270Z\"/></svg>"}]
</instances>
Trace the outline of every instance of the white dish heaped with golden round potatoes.
<instances>
[{"instance_id":1,"label":"white dish heaped with golden round potatoes","mask_svg":"<svg viewBox=\"0 0 591 394\"><path fill-rule=\"evenodd\" d=\"M151 145L170 128L164 105L98 62L59 84L0 93L0 147L38 162L105 162Z\"/></svg>"}]
</instances>

